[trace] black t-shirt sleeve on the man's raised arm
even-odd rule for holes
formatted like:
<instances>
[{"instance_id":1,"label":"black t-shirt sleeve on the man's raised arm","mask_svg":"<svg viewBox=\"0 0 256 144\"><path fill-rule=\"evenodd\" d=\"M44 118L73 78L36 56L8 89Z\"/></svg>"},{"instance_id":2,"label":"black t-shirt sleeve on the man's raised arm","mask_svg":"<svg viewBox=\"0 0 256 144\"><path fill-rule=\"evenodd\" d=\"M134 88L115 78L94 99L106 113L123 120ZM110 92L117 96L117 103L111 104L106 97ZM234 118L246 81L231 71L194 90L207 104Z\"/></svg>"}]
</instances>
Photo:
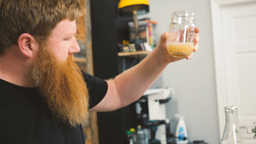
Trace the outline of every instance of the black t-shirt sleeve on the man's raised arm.
<instances>
[{"instance_id":1,"label":"black t-shirt sleeve on the man's raised arm","mask_svg":"<svg viewBox=\"0 0 256 144\"><path fill-rule=\"evenodd\" d=\"M105 80L84 73L86 86L89 92L89 109L96 106L106 95L108 84Z\"/></svg>"}]
</instances>

